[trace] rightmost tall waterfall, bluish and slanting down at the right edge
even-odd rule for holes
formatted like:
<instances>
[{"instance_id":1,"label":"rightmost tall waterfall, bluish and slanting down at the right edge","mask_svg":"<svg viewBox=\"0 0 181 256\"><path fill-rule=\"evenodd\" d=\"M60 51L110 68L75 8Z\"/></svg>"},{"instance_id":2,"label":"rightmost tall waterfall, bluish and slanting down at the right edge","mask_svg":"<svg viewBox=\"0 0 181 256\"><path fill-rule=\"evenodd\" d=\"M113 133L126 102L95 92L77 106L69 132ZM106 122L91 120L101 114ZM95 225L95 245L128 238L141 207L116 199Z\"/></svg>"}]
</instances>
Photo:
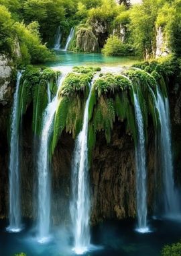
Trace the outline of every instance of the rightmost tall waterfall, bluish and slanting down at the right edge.
<instances>
[{"instance_id":1,"label":"rightmost tall waterfall, bluish and slanting down at the right edge","mask_svg":"<svg viewBox=\"0 0 181 256\"><path fill-rule=\"evenodd\" d=\"M160 117L160 157L164 184L164 212L166 216L177 218L180 215L180 199L174 187L172 147L170 131L170 109L168 98L157 90L157 108Z\"/></svg>"}]
</instances>

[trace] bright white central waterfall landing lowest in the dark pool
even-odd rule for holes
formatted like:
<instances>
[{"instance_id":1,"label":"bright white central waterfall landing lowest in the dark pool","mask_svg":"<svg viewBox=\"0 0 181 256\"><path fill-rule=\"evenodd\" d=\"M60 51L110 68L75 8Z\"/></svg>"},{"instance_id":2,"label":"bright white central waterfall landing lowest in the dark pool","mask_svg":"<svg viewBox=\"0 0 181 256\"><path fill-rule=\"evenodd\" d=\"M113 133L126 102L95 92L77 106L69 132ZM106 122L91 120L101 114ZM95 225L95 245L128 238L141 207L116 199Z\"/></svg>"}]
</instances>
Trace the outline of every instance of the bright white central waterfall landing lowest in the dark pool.
<instances>
[{"instance_id":1,"label":"bright white central waterfall landing lowest in the dark pool","mask_svg":"<svg viewBox=\"0 0 181 256\"><path fill-rule=\"evenodd\" d=\"M88 184L88 105L91 98L91 86L86 106L82 131L80 131L74 150L72 162L72 202L70 214L74 232L74 251L77 254L85 253L90 246L91 236L89 228L90 194Z\"/></svg>"}]
</instances>

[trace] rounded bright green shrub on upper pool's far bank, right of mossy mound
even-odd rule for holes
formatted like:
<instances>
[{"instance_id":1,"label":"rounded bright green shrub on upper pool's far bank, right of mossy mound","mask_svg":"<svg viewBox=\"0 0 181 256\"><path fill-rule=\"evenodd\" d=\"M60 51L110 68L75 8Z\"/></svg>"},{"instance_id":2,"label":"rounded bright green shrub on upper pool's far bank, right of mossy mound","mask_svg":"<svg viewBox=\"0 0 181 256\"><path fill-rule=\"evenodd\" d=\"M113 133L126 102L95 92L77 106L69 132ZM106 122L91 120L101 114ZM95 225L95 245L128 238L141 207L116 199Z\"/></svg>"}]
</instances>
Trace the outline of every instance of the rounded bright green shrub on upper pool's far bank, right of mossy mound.
<instances>
[{"instance_id":1,"label":"rounded bright green shrub on upper pool's far bank, right of mossy mound","mask_svg":"<svg viewBox=\"0 0 181 256\"><path fill-rule=\"evenodd\" d=\"M111 36L107 39L107 43L105 44L102 52L105 55L128 55L129 54L129 45L123 44L121 40L117 36Z\"/></svg>"}]
</instances>

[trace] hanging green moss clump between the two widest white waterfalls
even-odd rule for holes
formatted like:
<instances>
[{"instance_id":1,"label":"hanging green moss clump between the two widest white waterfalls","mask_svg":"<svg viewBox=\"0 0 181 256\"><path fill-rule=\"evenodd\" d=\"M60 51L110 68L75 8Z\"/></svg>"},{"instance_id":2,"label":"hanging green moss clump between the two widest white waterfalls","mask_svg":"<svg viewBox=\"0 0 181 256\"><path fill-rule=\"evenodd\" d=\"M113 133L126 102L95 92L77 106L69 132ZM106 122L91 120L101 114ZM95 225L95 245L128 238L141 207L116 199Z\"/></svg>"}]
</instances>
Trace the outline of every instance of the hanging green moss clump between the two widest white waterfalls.
<instances>
[{"instance_id":1,"label":"hanging green moss clump between the two widest white waterfalls","mask_svg":"<svg viewBox=\"0 0 181 256\"><path fill-rule=\"evenodd\" d=\"M84 105L90 90L93 73L69 73L58 93L58 107L54 120L52 154L62 131L72 133L72 137L82 129Z\"/></svg>"}]
</instances>

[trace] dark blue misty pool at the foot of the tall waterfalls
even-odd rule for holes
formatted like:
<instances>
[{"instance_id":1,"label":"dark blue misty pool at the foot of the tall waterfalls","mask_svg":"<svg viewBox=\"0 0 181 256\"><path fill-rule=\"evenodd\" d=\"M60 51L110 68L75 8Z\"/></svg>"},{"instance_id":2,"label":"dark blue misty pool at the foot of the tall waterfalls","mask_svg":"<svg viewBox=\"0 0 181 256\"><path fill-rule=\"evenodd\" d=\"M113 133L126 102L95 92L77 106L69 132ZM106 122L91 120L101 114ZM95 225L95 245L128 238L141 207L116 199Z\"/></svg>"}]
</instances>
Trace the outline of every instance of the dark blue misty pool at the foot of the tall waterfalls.
<instances>
[{"instance_id":1,"label":"dark blue misty pool at the foot of the tall waterfalls","mask_svg":"<svg viewBox=\"0 0 181 256\"><path fill-rule=\"evenodd\" d=\"M139 234L135 224L127 222L107 222L93 228L93 251L86 256L159 256L166 244L179 242L181 223L154 220L149 223L153 232ZM68 256L72 253L68 230L63 227L54 230L52 242L38 244L34 230L25 228L19 234L5 232L6 223L0 222L0 255L12 256L24 252L27 256Z\"/></svg>"}]
</instances>

